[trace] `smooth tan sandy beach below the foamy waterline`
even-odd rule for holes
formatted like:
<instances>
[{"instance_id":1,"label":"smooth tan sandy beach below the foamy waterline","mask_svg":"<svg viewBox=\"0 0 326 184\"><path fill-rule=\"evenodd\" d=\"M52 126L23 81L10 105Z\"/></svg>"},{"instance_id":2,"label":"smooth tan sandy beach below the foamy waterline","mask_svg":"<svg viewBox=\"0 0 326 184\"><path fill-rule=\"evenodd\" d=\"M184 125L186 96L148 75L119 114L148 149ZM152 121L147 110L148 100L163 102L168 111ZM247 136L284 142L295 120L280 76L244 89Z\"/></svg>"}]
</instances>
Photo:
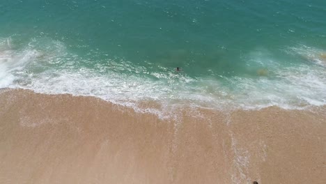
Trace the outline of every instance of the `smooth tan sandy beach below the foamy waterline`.
<instances>
[{"instance_id":1,"label":"smooth tan sandy beach below the foamy waterline","mask_svg":"<svg viewBox=\"0 0 326 184\"><path fill-rule=\"evenodd\" d=\"M180 110L0 91L0 183L325 183L326 107Z\"/></svg>"}]
</instances>

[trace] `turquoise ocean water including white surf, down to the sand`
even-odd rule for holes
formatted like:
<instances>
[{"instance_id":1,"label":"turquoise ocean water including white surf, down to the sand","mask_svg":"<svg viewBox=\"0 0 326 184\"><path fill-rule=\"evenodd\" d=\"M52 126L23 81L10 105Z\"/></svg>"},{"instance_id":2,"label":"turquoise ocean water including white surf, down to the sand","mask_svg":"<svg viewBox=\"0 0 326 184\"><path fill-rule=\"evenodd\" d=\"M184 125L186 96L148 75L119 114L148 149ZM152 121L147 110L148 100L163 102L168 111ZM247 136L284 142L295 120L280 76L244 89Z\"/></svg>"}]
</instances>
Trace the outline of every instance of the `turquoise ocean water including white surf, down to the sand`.
<instances>
[{"instance_id":1,"label":"turquoise ocean water including white surf, down to the sand","mask_svg":"<svg viewBox=\"0 0 326 184\"><path fill-rule=\"evenodd\" d=\"M0 88L135 108L326 105L325 15L325 0L1 0Z\"/></svg>"}]
</instances>

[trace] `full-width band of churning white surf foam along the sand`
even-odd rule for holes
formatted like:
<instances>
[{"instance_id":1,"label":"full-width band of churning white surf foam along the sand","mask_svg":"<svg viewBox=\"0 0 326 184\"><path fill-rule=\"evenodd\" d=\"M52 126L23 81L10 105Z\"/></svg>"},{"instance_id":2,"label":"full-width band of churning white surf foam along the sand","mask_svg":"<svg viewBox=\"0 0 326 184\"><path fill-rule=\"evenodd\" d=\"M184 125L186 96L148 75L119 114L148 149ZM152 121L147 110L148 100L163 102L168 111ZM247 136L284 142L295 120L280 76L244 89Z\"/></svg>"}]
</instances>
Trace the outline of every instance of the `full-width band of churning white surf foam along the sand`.
<instances>
[{"instance_id":1,"label":"full-width band of churning white surf foam along the sand","mask_svg":"<svg viewBox=\"0 0 326 184\"><path fill-rule=\"evenodd\" d=\"M63 43L34 39L23 49L7 47L1 52L0 87L95 96L162 118L175 112L171 108L183 105L213 109L260 109L273 105L302 109L326 105L325 68L307 63L280 66L265 50L249 54L249 61L268 68L271 74L192 78L162 66L152 72L123 60L96 61L93 68L87 68L83 63L89 60L69 54ZM161 109L140 107L139 102L146 100L159 102Z\"/></svg>"}]
</instances>

